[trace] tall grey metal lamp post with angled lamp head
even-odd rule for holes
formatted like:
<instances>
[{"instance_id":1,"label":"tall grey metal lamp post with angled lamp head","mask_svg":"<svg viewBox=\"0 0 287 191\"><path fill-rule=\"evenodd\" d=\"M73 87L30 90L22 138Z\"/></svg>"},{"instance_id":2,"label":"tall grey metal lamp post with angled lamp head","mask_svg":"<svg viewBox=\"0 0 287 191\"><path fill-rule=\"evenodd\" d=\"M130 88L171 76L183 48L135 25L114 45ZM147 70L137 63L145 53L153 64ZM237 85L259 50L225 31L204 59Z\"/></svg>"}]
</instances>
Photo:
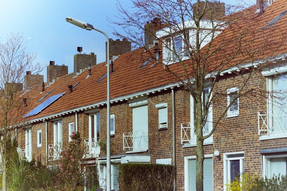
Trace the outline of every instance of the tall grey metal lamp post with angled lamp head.
<instances>
[{"instance_id":1,"label":"tall grey metal lamp post with angled lamp head","mask_svg":"<svg viewBox=\"0 0 287 191\"><path fill-rule=\"evenodd\" d=\"M102 34L107 39L107 177L106 177L106 191L111 191L111 171L110 171L110 47L108 36L104 31L96 29L93 25L81 21L79 19L67 17L66 21L81 27L86 30L96 30Z\"/></svg>"}]
</instances>

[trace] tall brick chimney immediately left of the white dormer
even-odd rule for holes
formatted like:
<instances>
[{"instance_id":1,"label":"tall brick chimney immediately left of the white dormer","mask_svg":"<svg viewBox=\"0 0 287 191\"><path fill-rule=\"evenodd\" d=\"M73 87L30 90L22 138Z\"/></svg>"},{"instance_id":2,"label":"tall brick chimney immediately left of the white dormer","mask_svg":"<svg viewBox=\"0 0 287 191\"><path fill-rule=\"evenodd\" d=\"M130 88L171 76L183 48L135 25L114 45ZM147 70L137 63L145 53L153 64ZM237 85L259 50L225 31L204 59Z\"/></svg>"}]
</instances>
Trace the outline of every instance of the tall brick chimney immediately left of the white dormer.
<instances>
[{"instance_id":1,"label":"tall brick chimney immediately left of the white dormer","mask_svg":"<svg viewBox=\"0 0 287 191\"><path fill-rule=\"evenodd\" d=\"M166 27L166 24L162 23L160 18L154 18L150 23L144 25L144 46L150 48L154 46L156 39L156 31Z\"/></svg>"}]
</instances>

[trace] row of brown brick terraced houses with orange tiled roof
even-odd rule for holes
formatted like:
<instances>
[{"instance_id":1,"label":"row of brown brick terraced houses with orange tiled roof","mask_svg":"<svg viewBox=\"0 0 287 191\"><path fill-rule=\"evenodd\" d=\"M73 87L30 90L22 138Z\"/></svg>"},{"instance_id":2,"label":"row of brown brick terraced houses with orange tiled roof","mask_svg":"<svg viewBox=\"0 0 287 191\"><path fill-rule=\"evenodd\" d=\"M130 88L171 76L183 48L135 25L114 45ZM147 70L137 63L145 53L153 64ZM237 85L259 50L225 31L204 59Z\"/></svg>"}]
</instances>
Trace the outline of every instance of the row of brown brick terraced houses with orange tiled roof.
<instances>
[{"instance_id":1,"label":"row of brown brick terraced houses with orange tiled roof","mask_svg":"<svg viewBox=\"0 0 287 191\"><path fill-rule=\"evenodd\" d=\"M269 39L278 47L257 61L239 64L248 69L265 59L280 62L276 68L266 68L252 77L247 88L284 91L287 90L287 43L283 42L287 37L287 1L268 0L263 5L259 7L258 2L257 6L241 13L256 15L253 26L258 29L259 41ZM146 27L159 30L164 25L154 19ZM218 31L216 38L221 36L232 41L232 36L224 33L226 30L228 28ZM269 38L270 31L272 38ZM274 36L274 33L278 35ZM157 36L169 39L168 34L162 31ZM152 40L146 44L153 48ZM252 48L252 45L248 46ZM169 56L164 47L159 47L159 50L161 59ZM162 65L155 64L156 60L150 59L148 54L145 55L143 48L131 51L131 42L125 39L110 39L110 58L113 60L110 72L112 189L118 190L119 164L159 163L175 164L177 190L195 190L195 116L189 92L180 83L169 80L171 78L166 76L170 73ZM43 76L27 72L25 79L33 79L30 81L33 84L24 82L21 99L27 97L25 104L30 110L23 119L29 123L17 129L18 144L27 160L39 156L47 156L48 164L57 160L57 146L68 143L69 135L79 131L88 149L86 170L97 166L101 180L105 179L106 152L100 149L98 142L106 140L106 67L105 62L96 63L94 54L76 54L71 74L68 74L67 66L50 62L46 84L34 85L41 84ZM229 92L238 91L238 83L241 83L238 78L238 73L227 68L218 79L213 91L227 90L223 105L228 105ZM209 92L210 87L206 86L205 91ZM222 125L204 142L204 190L224 190L225 184L234 180L238 173L252 172L268 178L273 174L286 175L286 103L286 98L238 98L222 118ZM220 104L214 104L210 109L204 133L209 133L209 126L220 110ZM214 151L219 151L220 155L215 156ZM100 187L105 189L104 181L100 181Z\"/></svg>"}]
</instances>

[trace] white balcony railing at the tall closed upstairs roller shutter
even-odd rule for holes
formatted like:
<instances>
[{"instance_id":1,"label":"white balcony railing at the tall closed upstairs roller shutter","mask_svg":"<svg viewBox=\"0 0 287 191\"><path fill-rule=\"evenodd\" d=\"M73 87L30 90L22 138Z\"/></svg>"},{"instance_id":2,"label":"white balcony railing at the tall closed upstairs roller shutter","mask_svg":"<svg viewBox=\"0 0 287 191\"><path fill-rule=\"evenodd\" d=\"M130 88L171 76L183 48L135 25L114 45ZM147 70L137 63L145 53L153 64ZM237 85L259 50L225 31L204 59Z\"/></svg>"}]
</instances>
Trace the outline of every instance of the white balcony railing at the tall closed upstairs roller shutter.
<instances>
[{"instance_id":1,"label":"white balcony railing at the tall closed upstairs roller shutter","mask_svg":"<svg viewBox=\"0 0 287 191\"><path fill-rule=\"evenodd\" d=\"M148 135L144 130L123 133L123 150L139 151L148 149Z\"/></svg>"}]
</instances>

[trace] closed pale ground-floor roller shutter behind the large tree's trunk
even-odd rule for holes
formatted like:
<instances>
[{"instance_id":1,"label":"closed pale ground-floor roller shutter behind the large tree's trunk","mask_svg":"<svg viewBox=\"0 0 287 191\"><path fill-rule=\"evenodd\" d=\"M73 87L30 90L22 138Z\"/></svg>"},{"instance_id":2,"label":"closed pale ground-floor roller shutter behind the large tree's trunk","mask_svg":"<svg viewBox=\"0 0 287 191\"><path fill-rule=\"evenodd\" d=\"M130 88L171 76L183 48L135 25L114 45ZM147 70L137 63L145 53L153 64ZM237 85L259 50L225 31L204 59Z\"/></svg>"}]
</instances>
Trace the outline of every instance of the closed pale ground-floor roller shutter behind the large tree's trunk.
<instances>
[{"instance_id":1,"label":"closed pale ground-floor roller shutter behind the large tree's trunk","mask_svg":"<svg viewBox=\"0 0 287 191\"><path fill-rule=\"evenodd\" d=\"M188 183L189 191L196 191L195 184L195 168L196 160L192 159L188 162ZM213 190L213 165L212 158L205 158L203 161L203 190Z\"/></svg>"}]
</instances>

